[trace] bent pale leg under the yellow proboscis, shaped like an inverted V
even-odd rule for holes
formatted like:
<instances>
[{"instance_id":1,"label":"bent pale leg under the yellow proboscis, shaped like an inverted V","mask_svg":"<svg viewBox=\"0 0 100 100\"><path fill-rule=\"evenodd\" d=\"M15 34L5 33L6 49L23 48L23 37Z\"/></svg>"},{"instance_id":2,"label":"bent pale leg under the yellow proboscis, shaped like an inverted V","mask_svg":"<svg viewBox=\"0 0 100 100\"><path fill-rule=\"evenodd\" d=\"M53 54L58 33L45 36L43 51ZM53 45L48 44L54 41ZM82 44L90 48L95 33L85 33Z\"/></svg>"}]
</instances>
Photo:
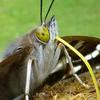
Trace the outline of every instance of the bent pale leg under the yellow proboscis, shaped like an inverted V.
<instances>
[{"instance_id":1,"label":"bent pale leg under the yellow proboscis, shaped like an inverted V","mask_svg":"<svg viewBox=\"0 0 100 100\"><path fill-rule=\"evenodd\" d=\"M59 60L58 58L59 58L59 56L60 56L61 50L64 51L64 54L65 54L65 56L66 56L66 62L64 61L63 64L60 63L60 62L58 62L58 60ZM55 59L56 59L56 60L55 60ZM64 60L65 60L65 59L64 59ZM56 62L55 62L55 61L56 61ZM82 82L82 80L79 78L79 76L75 73L75 71L74 71L74 66L73 66L72 61L71 61L71 57L69 56L68 51L67 51L67 49L65 48L65 46L64 46L63 44L60 43L60 44L58 45L57 49L56 49L55 56L54 56L54 60L53 60L53 64L54 64L54 66L56 65L56 67L52 70L51 73L54 73L54 72L59 71L59 70L61 70L61 69L65 69L65 67L66 67L66 66L64 66L65 63L66 63L66 64L69 63L69 66L70 66L70 69L71 69L70 72L71 72L71 74L72 74L73 76L76 77L76 79L79 81L79 83L81 83L84 87L88 88L89 86L86 85L84 82Z\"/></svg>"}]
</instances>

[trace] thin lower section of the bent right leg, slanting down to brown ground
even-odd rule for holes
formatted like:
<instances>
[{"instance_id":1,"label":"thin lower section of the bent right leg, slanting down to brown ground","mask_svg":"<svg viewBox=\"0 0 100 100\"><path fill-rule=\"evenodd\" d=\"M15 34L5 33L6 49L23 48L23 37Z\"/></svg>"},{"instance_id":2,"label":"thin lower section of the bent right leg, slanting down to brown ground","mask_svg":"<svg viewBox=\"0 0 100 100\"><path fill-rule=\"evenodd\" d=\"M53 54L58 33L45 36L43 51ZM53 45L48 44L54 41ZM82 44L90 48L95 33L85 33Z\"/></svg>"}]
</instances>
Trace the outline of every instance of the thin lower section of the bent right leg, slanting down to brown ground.
<instances>
[{"instance_id":1,"label":"thin lower section of the bent right leg, slanting down to brown ground","mask_svg":"<svg viewBox=\"0 0 100 100\"><path fill-rule=\"evenodd\" d=\"M64 47L64 53L65 53L65 55L66 55L66 62L69 63L69 66L70 66L70 68L71 68L71 73L72 73L72 75L75 76L75 78L79 81L80 84L82 84L82 85L83 85L84 87L86 87L86 88L89 88L89 86L88 86L87 84L85 84L85 83L79 78L79 76L75 73L75 71L74 71L74 66L73 66L73 63L72 63L72 61L71 61L71 57L70 57L70 55L68 54L68 51L67 51L67 49L65 48L64 45L63 45L63 47Z\"/></svg>"}]
</instances>

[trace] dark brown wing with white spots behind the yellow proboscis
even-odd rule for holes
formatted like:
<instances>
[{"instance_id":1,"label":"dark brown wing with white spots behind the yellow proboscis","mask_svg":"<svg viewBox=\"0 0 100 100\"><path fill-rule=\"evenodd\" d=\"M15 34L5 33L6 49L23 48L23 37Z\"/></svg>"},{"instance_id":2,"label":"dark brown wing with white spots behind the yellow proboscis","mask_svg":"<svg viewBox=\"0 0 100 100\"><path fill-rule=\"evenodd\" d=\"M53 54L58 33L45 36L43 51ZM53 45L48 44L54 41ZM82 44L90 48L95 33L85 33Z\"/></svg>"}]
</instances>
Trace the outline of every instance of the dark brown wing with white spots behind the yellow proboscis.
<instances>
[{"instance_id":1,"label":"dark brown wing with white spots behind the yellow proboscis","mask_svg":"<svg viewBox=\"0 0 100 100\"><path fill-rule=\"evenodd\" d=\"M99 38L88 36L65 36L62 38L68 43L70 43L73 47L75 47L80 53L82 53L84 57L91 57L91 59L89 59L88 61L93 68L100 66L100 51L97 56L95 56L96 54L94 54L97 51L97 45L100 45ZM87 68L85 67L81 59L69 48L66 47L66 49L72 57L74 66L77 67L81 65L81 72L86 71Z\"/></svg>"}]
</instances>

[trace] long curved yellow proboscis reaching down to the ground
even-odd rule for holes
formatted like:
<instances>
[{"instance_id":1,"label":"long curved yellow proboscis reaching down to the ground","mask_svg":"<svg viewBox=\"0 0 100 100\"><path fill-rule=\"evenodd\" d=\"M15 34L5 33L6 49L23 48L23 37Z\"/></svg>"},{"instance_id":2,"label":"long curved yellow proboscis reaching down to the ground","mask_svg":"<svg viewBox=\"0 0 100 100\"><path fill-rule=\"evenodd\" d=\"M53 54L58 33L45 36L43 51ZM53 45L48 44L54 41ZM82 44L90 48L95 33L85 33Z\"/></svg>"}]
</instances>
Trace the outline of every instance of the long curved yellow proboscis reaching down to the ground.
<instances>
[{"instance_id":1,"label":"long curved yellow proboscis reaching down to the ground","mask_svg":"<svg viewBox=\"0 0 100 100\"><path fill-rule=\"evenodd\" d=\"M56 37L56 39L58 41L60 41L61 43L63 43L64 45L66 45L68 48L70 48L75 54L77 54L81 60L85 63L86 67L88 68L89 70L89 73L92 77L92 80L93 80L93 83L94 83L94 86L95 86L95 89L96 89L96 95L97 95L97 100L100 100L100 91L99 91L99 88L98 88L98 85L97 85L97 81L96 81L96 78L95 78L95 75L93 73L93 70L89 64L89 62L85 59L85 57L78 51L76 50L73 46L71 46L68 42L64 41L63 39L61 39L59 36Z\"/></svg>"}]
</instances>

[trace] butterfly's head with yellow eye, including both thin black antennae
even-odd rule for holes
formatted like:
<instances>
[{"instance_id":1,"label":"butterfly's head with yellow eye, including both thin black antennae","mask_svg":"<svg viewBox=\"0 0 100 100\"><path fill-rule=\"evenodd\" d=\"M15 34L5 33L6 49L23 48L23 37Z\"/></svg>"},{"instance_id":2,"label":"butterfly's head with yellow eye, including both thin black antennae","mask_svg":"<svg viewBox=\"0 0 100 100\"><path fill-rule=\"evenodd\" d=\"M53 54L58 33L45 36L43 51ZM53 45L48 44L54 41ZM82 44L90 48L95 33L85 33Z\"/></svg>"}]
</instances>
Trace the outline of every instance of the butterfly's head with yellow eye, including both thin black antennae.
<instances>
[{"instance_id":1,"label":"butterfly's head with yellow eye, including both thin black antennae","mask_svg":"<svg viewBox=\"0 0 100 100\"><path fill-rule=\"evenodd\" d=\"M48 14L51 10L51 7L53 5L54 0L52 0L49 9L45 15L44 20L42 19L42 0L40 0L40 20L41 20L41 25L36 29L35 33L35 37L36 39L43 43L46 44L51 40L54 40L56 35L58 34L58 30L57 30L57 23L56 23L56 19L53 16L51 18L51 20L49 22L46 22L46 19L48 17Z\"/></svg>"}]
</instances>

